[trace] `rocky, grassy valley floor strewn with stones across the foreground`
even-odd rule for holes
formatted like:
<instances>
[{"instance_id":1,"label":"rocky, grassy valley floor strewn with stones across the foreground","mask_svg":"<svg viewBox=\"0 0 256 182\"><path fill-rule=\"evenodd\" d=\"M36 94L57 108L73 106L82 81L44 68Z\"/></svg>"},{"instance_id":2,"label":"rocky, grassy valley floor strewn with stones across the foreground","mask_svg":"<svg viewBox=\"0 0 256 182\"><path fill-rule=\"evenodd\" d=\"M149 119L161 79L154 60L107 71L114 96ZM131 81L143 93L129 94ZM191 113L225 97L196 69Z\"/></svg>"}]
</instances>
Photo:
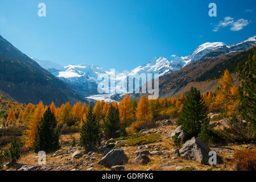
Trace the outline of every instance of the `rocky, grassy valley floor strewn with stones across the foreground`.
<instances>
[{"instance_id":1,"label":"rocky, grassy valley floor strewn with stones across the foreground","mask_svg":"<svg viewBox=\"0 0 256 182\"><path fill-rule=\"evenodd\" d=\"M39 156L34 152L28 152L22 155L19 159L19 171L34 171L34 170L58 170L58 171L92 171L92 170L160 170L160 171L175 171L175 170L230 170L230 161L233 155L238 150L245 148L254 148L255 144L228 145L228 146L204 146L200 139L186 142L181 151L181 156L176 154L175 148L172 146L172 135L176 126L171 121L164 121L156 129L142 130L141 133L150 135L151 133L160 134L160 138L154 143L148 143L141 146L124 146L117 147L116 145L123 142L119 139L115 143L102 142L101 147L90 146L84 150L79 146L71 147L72 138L75 137L77 142L79 134L62 135L61 149L52 154L47 154L46 164L39 165ZM179 130L179 129L178 129ZM179 131L178 131L179 132ZM179 137L182 137L182 133ZM208 153L208 150L216 151L222 162L216 166L209 166L200 159L200 154L186 153L191 150L191 146L201 148L203 158ZM189 148L190 147L190 148ZM182 148L181 148L182 149ZM205 152L205 154L203 154ZM218 158L219 159L219 158ZM204 164L205 163L205 164ZM4 169L8 169L6 166ZM16 170L9 168L9 170Z\"/></svg>"}]
</instances>

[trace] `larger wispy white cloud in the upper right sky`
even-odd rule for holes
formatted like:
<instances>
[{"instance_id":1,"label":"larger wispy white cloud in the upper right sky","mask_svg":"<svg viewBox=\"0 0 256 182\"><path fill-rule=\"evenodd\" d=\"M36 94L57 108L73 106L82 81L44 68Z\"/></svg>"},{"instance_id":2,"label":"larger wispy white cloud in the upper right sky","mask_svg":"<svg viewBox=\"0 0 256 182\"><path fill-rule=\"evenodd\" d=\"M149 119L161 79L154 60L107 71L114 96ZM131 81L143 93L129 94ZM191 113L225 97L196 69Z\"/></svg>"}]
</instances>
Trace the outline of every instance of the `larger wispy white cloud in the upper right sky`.
<instances>
[{"instance_id":1,"label":"larger wispy white cloud in the upper right sky","mask_svg":"<svg viewBox=\"0 0 256 182\"><path fill-rule=\"evenodd\" d=\"M242 30L243 27L247 26L249 24L248 20L245 19L239 19L236 22L234 21L234 18L230 16L226 16L224 20L218 22L216 26L214 26L213 30L214 32L217 32L220 30L221 27L227 27L231 26L231 31L239 31Z\"/></svg>"}]
</instances>

